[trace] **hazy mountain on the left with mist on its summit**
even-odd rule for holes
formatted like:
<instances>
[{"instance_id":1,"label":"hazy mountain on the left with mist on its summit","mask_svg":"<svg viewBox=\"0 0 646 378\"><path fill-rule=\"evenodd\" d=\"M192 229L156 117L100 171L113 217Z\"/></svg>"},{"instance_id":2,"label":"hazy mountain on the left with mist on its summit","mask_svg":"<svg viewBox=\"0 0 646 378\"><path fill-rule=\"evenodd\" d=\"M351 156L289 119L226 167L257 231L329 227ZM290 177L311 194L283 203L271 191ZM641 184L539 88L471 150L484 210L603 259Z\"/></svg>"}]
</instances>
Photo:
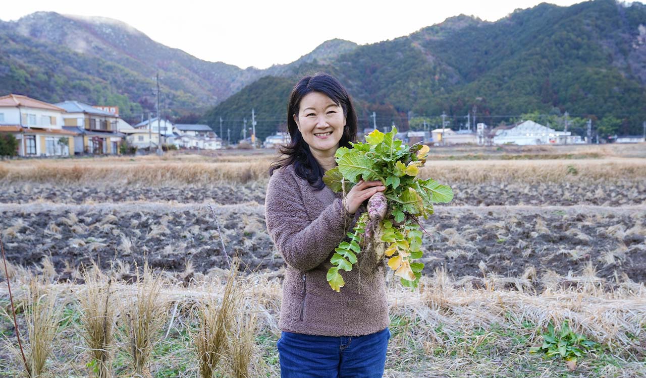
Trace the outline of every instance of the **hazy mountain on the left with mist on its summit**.
<instances>
[{"instance_id":1,"label":"hazy mountain on the left with mist on its summit","mask_svg":"<svg viewBox=\"0 0 646 378\"><path fill-rule=\"evenodd\" d=\"M171 115L203 112L264 75L293 74L291 65L267 70L207 62L152 41L121 21L105 17L36 12L0 21L0 93L18 92L56 103L77 99L116 104L125 117L154 111L161 76L162 108ZM295 65L330 62L355 43L335 39Z\"/></svg>"}]
</instances>

